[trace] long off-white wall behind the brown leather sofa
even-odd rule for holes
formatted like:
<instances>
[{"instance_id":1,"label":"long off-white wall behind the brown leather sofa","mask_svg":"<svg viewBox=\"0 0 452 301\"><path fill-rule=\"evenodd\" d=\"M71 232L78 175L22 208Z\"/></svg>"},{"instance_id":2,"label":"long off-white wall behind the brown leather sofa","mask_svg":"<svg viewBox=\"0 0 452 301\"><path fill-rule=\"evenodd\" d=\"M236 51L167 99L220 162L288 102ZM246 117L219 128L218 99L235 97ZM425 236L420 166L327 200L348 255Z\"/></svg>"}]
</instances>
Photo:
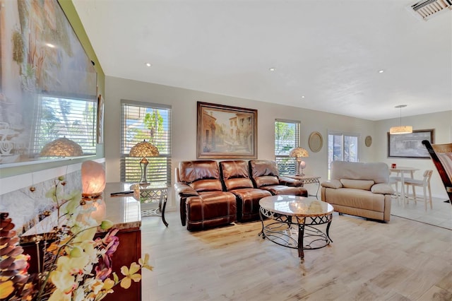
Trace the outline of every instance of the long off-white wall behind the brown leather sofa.
<instances>
[{"instance_id":1,"label":"long off-white wall behind the brown leather sofa","mask_svg":"<svg viewBox=\"0 0 452 301\"><path fill-rule=\"evenodd\" d=\"M121 99L172 105L172 170L177 167L179 161L196 160L197 101L257 109L258 159L275 159L275 119L301 121L301 146L309 151L309 158L305 160L307 167L304 172L307 175L321 176L322 181L326 180L328 171L328 129L360 133L362 135L361 160L371 161L375 157L376 144L373 143L370 148L364 146L365 136L376 136L374 122L369 120L111 76L106 77L105 88L105 166L107 182L119 182ZM323 136L323 148L319 153L313 153L309 150L308 138L312 131L319 131ZM312 189L312 187L308 187L308 189ZM174 207L176 204L172 190L169 189L168 206Z\"/></svg>"}]
</instances>

